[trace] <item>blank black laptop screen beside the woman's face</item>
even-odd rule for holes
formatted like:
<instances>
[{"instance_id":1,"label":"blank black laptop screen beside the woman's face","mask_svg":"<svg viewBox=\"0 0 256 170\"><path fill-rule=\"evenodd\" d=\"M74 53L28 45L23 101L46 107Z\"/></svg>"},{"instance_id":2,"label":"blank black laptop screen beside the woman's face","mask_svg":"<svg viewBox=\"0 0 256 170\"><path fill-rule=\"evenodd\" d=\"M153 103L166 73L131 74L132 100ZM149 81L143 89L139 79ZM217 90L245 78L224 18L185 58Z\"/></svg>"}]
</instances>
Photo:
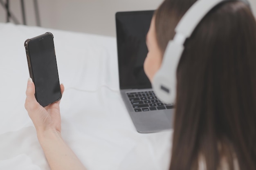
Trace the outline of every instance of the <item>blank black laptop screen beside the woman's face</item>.
<instances>
[{"instance_id":1,"label":"blank black laptop screen beside the woman's face","mask_svg":"<svg viewBox=\"0 0 256 170\"><path fill-rule=\"evenodd\" d=\"M120 89L151 88L143 66L148 53L146 35L153 13L154 11L116 13Z\"/></svg>"}]
</instances>

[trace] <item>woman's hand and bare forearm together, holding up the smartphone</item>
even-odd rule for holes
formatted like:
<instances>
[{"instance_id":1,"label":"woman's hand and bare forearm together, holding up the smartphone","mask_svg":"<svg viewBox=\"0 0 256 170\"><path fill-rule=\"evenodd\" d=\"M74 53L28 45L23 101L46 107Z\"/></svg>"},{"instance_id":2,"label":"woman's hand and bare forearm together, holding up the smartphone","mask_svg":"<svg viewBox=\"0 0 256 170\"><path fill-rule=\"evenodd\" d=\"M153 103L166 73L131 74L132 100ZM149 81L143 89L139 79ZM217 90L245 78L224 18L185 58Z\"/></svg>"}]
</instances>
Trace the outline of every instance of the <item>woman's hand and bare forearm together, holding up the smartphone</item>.
<instances>
[{"instance_id":1,"label":"woman's hand and bare forearm together, holding up the smartphone","mask_svg":"<svg viewBox=\"0 0 256 170\"><path fill-rule=\"evenodd\" d=\"M64 86L61 84L61 94ZM35 85L32 79L27 81L25 108L32 119L51 170L86 170L74 152L61 137L60 101L45 108L35 97Z\"/></svg>"}]
</instances>

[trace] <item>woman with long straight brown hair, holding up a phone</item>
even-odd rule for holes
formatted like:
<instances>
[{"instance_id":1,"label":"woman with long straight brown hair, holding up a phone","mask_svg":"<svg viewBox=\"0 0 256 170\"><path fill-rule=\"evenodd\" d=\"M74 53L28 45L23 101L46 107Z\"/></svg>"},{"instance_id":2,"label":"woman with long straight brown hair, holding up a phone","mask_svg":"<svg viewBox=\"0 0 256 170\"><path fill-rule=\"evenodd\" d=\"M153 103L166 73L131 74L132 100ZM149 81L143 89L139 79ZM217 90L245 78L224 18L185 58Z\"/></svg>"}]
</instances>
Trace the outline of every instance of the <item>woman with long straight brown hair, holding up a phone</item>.
<instances>
[{"instance_id":1,"label":"woman with long straight brown hair, holding up a phone","mask_svg":"<svg viewBox=\"0 0 256 170\"><path fill-rule=\"evenodd\" d=\"M147 36L146 75L153 80L168 41L196 0L165 0ZM170 170L256 169L256 22L229 1L212 9L184 44L177 68ZM61 85L63 93L64 86ZM52 170L85 168L61 138L59 102L41 107L29 79L25 108Z\"/></svg>"}]
</instances>

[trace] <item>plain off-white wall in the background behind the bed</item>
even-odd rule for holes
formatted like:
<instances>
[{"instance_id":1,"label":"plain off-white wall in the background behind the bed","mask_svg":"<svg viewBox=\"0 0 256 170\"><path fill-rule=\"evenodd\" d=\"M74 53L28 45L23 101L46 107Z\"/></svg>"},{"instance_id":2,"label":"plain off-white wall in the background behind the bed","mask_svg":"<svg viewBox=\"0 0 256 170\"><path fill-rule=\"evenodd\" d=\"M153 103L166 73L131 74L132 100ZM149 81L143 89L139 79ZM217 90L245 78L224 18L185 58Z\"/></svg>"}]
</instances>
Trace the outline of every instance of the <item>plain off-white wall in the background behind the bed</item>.
<instances>
[{"instance_id":1,"label":"plain off-white wall in the background behind the bed","mask_svg":"<svg viewBox=\"0 0 256 170\"><path fill-rule=\"evenodd\" d=\"M28 25L36 25L33 0L24 0ZM249 0L256 13L256 0ZM162 0L38 0L41 25L46 28L115 36L115 13L156 9ZM22 22L20 1L10 9ZM0 22L6 21L0 6Z\"/></svg>"}]
</instances>

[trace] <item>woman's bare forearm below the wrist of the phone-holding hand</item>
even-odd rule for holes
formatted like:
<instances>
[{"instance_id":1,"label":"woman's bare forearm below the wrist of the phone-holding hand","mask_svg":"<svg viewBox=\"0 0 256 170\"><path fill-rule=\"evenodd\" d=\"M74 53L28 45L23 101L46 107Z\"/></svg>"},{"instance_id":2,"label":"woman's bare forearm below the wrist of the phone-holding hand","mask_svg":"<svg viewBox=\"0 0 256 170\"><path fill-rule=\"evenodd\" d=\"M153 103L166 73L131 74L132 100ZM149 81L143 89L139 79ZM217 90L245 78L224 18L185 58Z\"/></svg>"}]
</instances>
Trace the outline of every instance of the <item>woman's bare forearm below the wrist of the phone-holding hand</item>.
<instances>
[{"instance_id":1,"label":"woman's bare forearm below the wrist of the phone-holding hand","mask_svg":"<svg viewBox=\"0 0 256 170\"><path fill-rule=\"evenodd\" d=\"M86 170L57 130L38 132L38 140L51 170Z\"/></svg>"}]
</instances>

